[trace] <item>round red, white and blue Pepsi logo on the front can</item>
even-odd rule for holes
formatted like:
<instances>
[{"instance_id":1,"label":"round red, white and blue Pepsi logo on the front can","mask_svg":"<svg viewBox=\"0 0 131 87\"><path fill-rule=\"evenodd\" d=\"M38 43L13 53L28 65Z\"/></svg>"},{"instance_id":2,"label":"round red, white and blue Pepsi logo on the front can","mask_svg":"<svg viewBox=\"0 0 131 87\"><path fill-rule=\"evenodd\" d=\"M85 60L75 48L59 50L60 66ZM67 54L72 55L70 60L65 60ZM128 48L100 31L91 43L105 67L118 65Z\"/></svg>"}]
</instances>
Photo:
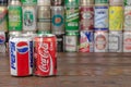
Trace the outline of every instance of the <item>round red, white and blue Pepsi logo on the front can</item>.
<instances>
[{"instance_id":1,"label":"round red, white and blue Pepsi logo on the front can","mask_svg":"<svg viewBox=\"0 0 131 87\"><path fill-rule=\"evenodd\" d=\"M16 45L17 51L22 54L26 53L28 51L28 45L25 41L21 41Z\"/></svg>"}]
</instances>

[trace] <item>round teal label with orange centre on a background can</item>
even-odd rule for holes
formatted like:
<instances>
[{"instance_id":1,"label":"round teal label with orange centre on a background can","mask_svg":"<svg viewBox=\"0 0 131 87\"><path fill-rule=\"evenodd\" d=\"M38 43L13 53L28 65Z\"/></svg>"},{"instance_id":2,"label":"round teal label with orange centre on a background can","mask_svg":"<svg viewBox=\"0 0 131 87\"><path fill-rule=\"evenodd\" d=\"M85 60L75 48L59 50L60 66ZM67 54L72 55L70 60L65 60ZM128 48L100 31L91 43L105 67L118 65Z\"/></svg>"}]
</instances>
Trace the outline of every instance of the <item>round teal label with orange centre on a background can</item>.
<instances>
[{"instance_id":1,"label":"round teal label with orange centre on a background can","mask_svg":"<svg viewBox=\"0 0 131 87\"><path fill-rule=\"evenodd\" d=\"M63 17L61 15L53 15L52 16L52 24L55 26L61 26L63 24Z\"/></svg>"}]
</instances>

